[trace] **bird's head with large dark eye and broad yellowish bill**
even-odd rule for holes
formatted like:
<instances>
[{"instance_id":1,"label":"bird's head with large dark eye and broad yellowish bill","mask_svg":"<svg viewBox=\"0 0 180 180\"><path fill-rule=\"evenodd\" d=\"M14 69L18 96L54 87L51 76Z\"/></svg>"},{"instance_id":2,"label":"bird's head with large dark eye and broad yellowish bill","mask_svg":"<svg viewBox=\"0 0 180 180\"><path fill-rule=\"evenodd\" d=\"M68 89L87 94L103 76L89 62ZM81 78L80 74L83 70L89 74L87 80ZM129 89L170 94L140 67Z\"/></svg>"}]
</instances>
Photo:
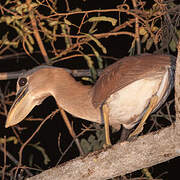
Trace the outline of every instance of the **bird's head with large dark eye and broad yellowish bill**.
<instances>
[{"instance_id":1,"label":"bird's head with large dark eye and broad yellowish bill","mask_svg":"<svg viewBox=\"0 0 180 180\"><path fill-rule=\"evenodd\" d=\"M50 95L48 82L53 80L51 68L53 67L39 66L19 76L16 99L9 111L6 128L21 122L36 105Z\"/></svg>"}]
</instances>

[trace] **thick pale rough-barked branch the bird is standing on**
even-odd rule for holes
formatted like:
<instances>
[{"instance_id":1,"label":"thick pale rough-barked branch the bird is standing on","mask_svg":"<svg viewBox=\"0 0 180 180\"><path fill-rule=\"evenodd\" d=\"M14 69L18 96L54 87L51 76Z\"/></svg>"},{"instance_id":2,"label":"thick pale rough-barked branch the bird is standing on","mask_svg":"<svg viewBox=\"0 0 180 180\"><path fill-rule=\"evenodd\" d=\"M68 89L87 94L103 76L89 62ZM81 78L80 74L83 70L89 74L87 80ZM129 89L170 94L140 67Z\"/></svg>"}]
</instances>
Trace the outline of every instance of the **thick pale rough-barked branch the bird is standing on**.
<instances>
[{"instance_id":1,"label":"thick pale rough-barked branch the bird is standing on","mask_svg":"<svg viewBox=\"0 0 180 180\"><path fill-rule=\"evenodd\" d=\"M180 155L180 149L175 148L180 133L176 134L175 128L171 125L136 141L118 143L110 149L78 157L29 180L108 179L168 161Z\"/></svg>"}]
</instances>

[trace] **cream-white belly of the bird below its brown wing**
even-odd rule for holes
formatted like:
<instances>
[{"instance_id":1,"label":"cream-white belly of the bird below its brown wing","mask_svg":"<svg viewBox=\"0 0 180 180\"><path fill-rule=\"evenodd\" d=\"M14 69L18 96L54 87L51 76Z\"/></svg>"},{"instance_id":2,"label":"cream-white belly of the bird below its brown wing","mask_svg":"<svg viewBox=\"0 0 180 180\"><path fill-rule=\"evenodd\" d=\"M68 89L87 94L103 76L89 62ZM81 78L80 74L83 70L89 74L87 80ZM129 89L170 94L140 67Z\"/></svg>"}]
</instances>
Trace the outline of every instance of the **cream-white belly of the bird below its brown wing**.
<instances>
[{"instance_id":1,"label":"cream-white belly of the bird below its brown wing","mask_svg":"<svg viewBox=\"0 0 180 180\"><path fill-rule=\"evenodd\" d=\"M132 128L141 118L150 98L157 93L161 80L141 79L113 93L107 99L111 124L123 124L128 129Z\"/></svg>"}]
</instances>

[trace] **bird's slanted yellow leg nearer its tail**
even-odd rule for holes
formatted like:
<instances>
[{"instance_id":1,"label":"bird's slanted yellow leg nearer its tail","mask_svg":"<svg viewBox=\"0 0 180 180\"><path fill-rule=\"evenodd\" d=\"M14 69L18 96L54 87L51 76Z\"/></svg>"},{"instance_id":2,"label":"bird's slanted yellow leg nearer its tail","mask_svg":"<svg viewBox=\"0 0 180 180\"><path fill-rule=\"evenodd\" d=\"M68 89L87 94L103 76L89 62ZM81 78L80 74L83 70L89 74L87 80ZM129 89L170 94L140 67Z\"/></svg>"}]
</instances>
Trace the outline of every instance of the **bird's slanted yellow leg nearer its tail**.
<instances>
[{"instance_id":1,"label":"bird's slanted yellow leg nearer its tail","mask_svg":"<svg viewBox=\"0 0 180 180\"><path fill-rule=\"evenodd\" d=\"M151 112L153 111L154 107L156 106L157 104L157 101L158 101L158 96L153 96L151 98L151 101L150 101L150 104L148 106L148 109L147 111L145 112L141 122L139 123L139 125L137 126L137 128L129 135L129 137L132 137L132 136L135 136L135 135L138 135L142 130L143 130L143 127L144 127L144 124L145 124L145 121L146 119L148 118L148 116L151 114Z\"/></svg>"}]
</instances>

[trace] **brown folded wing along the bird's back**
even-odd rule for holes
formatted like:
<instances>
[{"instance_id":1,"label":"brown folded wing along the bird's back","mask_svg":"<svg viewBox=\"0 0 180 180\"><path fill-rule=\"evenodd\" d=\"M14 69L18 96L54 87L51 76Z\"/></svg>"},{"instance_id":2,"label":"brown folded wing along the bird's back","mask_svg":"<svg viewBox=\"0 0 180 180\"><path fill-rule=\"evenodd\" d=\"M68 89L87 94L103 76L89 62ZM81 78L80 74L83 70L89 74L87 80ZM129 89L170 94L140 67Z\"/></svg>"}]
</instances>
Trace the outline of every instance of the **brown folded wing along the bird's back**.
<instances>
[{"instance_id":1,"label":"brown folded wing along the bird's back","mask_svg":"<svg viewBox=\"0 0 180 180\"><path fill-rule=\"evenodd\" d=\"M168 55L129 56L108 66L92 89L92 103L95 107L103 104L114 92L146 77L162 75L171 65Z\"/></svg>"}]
</instances>

